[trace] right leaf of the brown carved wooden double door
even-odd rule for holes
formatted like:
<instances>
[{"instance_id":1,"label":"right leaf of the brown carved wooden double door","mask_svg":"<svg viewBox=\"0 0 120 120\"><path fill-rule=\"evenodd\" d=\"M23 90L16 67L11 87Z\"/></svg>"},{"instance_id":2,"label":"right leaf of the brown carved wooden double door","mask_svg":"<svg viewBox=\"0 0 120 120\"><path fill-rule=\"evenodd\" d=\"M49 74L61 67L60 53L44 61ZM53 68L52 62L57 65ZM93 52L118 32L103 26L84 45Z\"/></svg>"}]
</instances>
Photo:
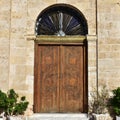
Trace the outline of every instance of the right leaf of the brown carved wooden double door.
<instances>
[{"instance_id":1,"label":"right leaf of the brown carved wooden double door","mask_svg":"<svg viewBox=\"0 0 120 120\"><path fill-rule=\"evenodd\" d=\"M61 49L62 80L60 82L61 112L83 111L83 51L81 46Z\"/></svg>"}]
</instances>

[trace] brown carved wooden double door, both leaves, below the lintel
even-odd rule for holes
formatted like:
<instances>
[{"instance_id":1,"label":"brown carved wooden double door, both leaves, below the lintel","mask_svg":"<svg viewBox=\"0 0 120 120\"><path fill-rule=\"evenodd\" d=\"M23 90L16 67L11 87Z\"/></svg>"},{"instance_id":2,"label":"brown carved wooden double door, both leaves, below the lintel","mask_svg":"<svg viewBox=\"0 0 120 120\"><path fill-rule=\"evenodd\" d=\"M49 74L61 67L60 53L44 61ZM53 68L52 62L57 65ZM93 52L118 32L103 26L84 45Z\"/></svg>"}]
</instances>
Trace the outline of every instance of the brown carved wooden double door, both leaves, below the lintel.
<instances>
[{"instance_id":1,"label":"brown carved wooden double door, both leaves, below the lintel","mask_svg":"<svg viewBox=\"0 0 120 120\"><path fill-rule=\"evenodd\" d=\"M36 46L34 112L87 111L86 47Z\"/></svg>"}]
</instances>

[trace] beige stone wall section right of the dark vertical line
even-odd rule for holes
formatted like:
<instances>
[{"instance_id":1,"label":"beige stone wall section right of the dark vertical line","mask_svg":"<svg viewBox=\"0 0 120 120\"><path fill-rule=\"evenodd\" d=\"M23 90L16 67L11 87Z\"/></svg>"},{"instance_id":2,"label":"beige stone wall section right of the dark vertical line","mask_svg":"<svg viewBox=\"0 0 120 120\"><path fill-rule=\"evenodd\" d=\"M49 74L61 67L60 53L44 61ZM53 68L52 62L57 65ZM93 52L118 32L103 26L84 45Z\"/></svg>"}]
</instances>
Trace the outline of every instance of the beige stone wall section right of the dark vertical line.
<instances>
[{"instance_id":1,"label":"beige stone wall section right of the dark vertical line","mask_svg":"<svg viewBox=\"0 0 120 120\"><path fill-rule=\"evenodd\" d=\"M99 85L120 86L120 1L98 0Z\"/></svg>"}]
</instances>

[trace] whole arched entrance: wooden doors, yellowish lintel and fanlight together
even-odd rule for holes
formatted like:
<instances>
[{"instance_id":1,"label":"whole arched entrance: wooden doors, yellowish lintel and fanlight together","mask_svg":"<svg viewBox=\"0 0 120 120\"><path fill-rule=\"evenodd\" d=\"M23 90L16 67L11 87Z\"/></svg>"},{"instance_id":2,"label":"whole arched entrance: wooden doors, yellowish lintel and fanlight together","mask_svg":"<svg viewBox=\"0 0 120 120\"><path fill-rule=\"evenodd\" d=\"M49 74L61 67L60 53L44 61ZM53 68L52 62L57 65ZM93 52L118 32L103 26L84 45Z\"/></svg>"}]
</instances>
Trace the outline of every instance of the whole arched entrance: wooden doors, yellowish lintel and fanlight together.
<instances>
[{"instance_id":1,"label":"whole arched entrance: wooden doors, yellowish lintel and fanlight together","mask_svg":"<svg viewBox=\"0 0 120 120\"><path fill-rule=\"evenodd\" d=\"M86 28L61 7L55 7L57 13L52 7L52 13L40 15L36 23L34 112L37 113L87 112ZM69 36L72 33L75 36ZM76 36L78 33L80 36Z\"/></svg>"}]
</instances>

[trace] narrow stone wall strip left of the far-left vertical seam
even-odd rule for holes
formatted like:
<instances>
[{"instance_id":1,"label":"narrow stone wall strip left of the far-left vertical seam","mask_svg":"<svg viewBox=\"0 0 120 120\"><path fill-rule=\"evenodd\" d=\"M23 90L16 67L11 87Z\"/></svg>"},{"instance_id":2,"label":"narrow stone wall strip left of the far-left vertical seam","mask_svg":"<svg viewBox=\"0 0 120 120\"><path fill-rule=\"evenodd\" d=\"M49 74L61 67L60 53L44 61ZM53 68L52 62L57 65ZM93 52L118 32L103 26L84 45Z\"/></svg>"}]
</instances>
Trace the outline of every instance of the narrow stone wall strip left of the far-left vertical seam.
<instances>
[{"instance_id":1,"label":"narrow stone wall strip left of the far-left vertical seam","mask_svg":"<svg viewBox=\"0 0 120 120\"><path fill-rule=\"evenodd\" d=\"M0 1L0 88L9 87L10 0Z\"/></svg>"}]
</instances>

